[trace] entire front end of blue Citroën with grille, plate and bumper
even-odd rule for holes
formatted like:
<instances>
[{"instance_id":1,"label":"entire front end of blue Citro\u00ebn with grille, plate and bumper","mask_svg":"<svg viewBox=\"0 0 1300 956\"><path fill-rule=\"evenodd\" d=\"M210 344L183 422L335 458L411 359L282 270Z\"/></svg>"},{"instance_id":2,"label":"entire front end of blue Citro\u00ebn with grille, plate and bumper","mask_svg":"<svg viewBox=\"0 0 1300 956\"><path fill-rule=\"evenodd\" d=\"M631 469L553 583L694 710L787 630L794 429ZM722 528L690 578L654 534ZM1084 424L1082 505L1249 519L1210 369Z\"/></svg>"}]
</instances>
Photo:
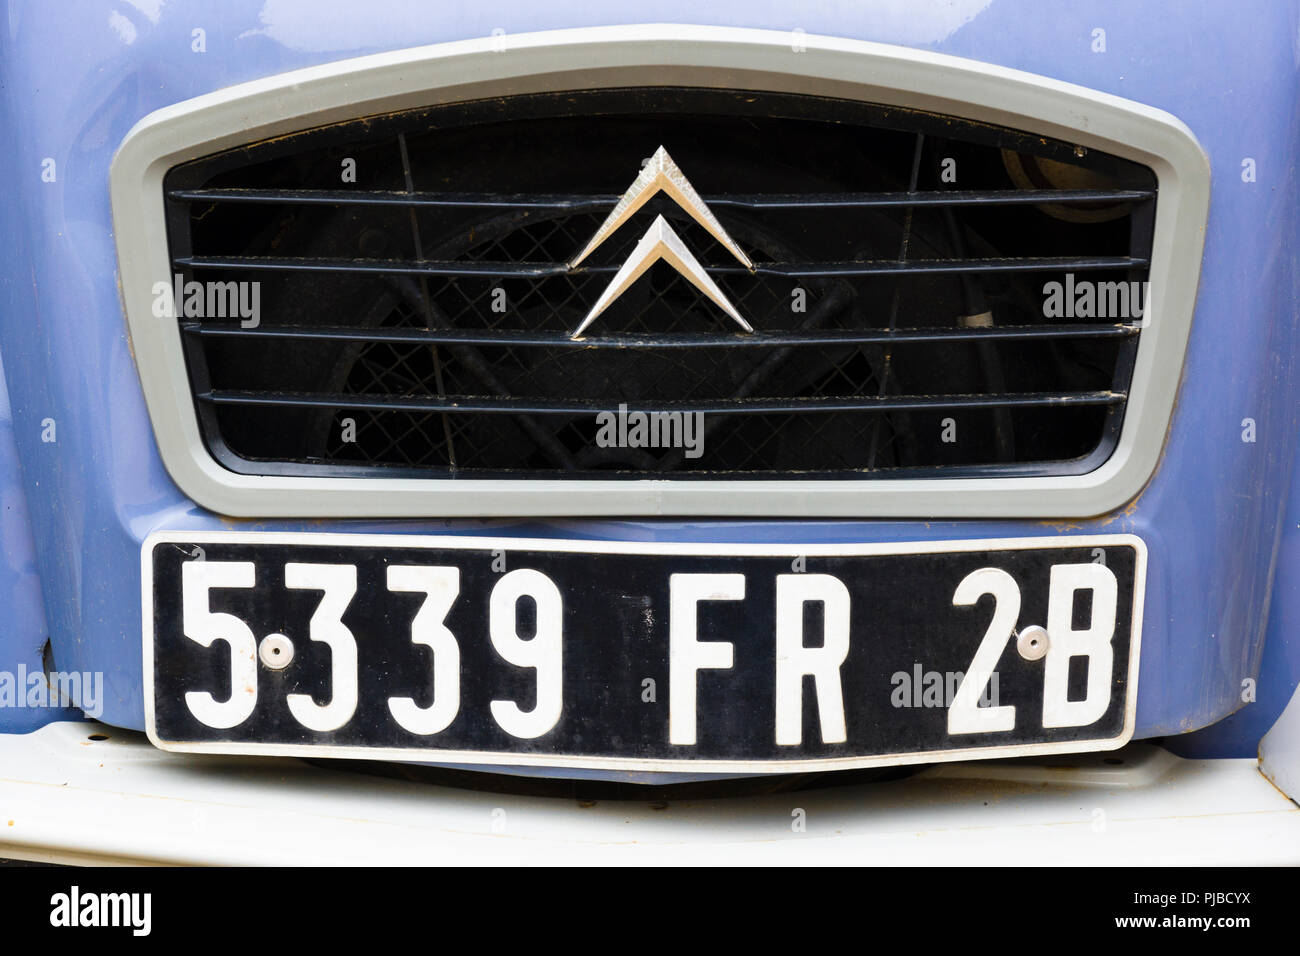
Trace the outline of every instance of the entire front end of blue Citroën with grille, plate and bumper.
<instances>
[{"instance_id":1,"label":"entire front end of blue Citro\u00ebn with grille, plate and bumper","mask_svg":"<svg viewBox=\"0 0 1300 956\"><path fill-rule=\"evenodd\" d=\"M3 853L1295 862L1252 9L14 5Z\"/></svg>"}]
</instances>

